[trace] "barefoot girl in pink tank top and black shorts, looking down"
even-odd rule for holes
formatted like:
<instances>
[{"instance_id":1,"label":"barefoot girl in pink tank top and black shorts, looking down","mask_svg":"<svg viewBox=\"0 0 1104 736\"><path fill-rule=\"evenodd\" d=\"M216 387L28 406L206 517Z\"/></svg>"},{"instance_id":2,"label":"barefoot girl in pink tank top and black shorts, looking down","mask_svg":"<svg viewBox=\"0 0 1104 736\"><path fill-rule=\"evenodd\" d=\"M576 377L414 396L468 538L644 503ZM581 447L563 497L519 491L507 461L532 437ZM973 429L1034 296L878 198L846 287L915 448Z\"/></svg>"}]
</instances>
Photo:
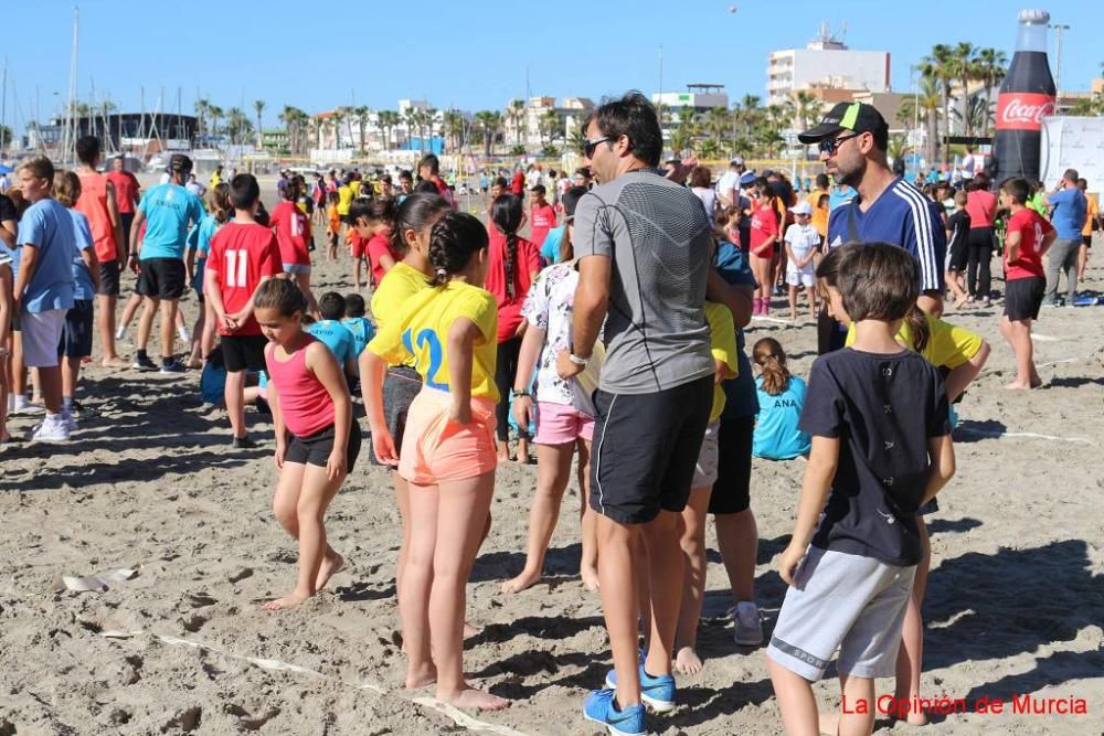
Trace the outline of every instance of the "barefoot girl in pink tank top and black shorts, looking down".
<instances>
[{"instance_id":1,"label":"barefoot girl in pink tank top and black shorts, looking down","mask_svg":"<svg viewBox=\"0 0 1104 736\"><path fill-rule=\"evenodd\" d=\"M291 608L314 596L343 566L326 542L326 508L360 452L360 427L341 366L302 330L307 299L295 282L274 278L254 296L254 314L269 343L268 403L276 426L279 480L273 511L299 541L299 577L288 595L265 604Z\"/></svg>"}]
</instances>

